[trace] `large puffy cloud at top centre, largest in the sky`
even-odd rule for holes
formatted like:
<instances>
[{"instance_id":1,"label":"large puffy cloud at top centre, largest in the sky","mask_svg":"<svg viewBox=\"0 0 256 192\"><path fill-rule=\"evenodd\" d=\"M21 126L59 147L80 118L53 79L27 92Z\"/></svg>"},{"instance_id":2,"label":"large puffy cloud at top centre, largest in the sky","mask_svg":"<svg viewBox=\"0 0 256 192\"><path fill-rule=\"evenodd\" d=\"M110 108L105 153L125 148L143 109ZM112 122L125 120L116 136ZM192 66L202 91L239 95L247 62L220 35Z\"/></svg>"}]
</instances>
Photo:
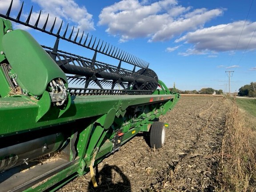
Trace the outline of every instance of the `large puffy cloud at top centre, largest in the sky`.
<instances>
[{"instance_id":1,"label":"large puffy cloud at top centre, largest in the sky","mask_svg":"<svg viewBox=\"0 0 256 192\"><path fill-rule=\"evenodd\" d=\"M151 4L121 0L102 9L98 24L107 25L106 32L119 35L121 42L145 37L150 42L165 41L196 30L222 13L222 9L192 10L178 5L177 0L160 0Z\"/></svg>"}]
</instances>

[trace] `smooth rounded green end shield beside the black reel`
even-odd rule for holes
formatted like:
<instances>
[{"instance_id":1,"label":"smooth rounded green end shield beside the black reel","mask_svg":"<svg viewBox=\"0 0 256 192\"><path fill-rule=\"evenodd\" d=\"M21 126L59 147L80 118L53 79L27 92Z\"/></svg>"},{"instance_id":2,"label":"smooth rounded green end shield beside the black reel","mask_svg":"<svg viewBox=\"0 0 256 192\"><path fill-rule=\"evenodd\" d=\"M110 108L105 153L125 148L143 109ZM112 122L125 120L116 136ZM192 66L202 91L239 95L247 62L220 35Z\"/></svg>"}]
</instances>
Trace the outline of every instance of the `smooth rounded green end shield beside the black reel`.
<instances>
[{"instance_id":1,"label":"smooth rounded green end shield beside the black reel","mask_svg":"<svg viewBox=\"0 0 256 192\"><path fill-rule=\"evenodd\" d=\"M65 73L28 32L20 29L8 32L2 44L18 83L32 95L42 95L53 79L61 78L68 82Z\"/></svg>"}]
</instances>

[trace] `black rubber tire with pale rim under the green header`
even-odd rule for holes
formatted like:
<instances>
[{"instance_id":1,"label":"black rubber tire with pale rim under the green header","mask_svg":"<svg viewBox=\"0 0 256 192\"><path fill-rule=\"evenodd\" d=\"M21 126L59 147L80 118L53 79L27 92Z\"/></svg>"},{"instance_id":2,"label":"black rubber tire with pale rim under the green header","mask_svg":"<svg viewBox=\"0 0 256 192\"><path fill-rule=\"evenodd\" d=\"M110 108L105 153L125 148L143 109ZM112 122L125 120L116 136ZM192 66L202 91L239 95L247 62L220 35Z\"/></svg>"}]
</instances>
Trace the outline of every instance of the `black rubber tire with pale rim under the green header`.
<instances>
[{"instance_id":1,"label":"black rubber tire with pale rim under the green header","mask_svg":"<svg viewBox=\"0 0 256 192\"><path fill-rule=\"evenodd\" d=\"M156 121L150 128L150 147L161 148L165 143L165 126L163 122Z\"/></svg>"}]
</instances>

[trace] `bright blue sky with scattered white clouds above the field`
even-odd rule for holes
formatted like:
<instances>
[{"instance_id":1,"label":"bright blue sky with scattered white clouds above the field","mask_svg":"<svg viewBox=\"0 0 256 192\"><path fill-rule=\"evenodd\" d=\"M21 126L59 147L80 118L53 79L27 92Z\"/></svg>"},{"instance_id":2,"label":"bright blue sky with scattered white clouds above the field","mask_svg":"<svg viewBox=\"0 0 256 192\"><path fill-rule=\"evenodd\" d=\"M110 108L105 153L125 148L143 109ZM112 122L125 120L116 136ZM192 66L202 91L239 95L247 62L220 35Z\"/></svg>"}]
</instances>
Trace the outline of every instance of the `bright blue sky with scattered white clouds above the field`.
<instances>
[{"instance_id":1,"label":"bright blue sky with scattered white clouds above the field","mask_svg":"<svg viewBox=\"0 0 256 192\"><path fill-rule=\"evenodd\" d=\"M6 13L10 1L0 0L0 13ZM21 3L13 0L11 16L16 16ZM49 13L48 28L56 17L56 26L63 20L75 31L80 28L115 45L149 62L169 88L175 83L180 90L228 92L227 71L234 71L231 92L256 82L255 0L24 0L21 18L32 5L31 24L40 10L41 25ZM51 37L24 29L40 44L53 46ZM78 46L62 46L87 56Z\"/></svg>"}]
</instances>

